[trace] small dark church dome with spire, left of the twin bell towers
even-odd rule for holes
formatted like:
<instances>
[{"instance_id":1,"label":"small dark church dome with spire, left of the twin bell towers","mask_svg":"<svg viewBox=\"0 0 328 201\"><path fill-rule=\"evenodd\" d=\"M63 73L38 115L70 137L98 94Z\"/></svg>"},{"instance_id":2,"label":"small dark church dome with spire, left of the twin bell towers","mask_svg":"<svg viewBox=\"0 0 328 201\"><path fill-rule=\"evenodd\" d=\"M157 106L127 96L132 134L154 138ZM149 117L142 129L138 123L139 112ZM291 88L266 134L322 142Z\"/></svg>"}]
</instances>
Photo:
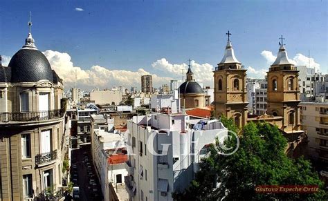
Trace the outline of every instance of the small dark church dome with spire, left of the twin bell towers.
<instances>
[{"instance_id":1,"label":"small dark church dome with spire, left of the twin bell towers","mask_svg":"<svg viewBox=\"0 0 328 201\"><path fill-rule=\"evenodd\" d=\"M195 82L194 73L188 68L186 73L187 80L179 86L179 95L181 97L181 106L184 108L203 108L205 107L205 93L201 86Z\"/></svg>"}]
</instances>

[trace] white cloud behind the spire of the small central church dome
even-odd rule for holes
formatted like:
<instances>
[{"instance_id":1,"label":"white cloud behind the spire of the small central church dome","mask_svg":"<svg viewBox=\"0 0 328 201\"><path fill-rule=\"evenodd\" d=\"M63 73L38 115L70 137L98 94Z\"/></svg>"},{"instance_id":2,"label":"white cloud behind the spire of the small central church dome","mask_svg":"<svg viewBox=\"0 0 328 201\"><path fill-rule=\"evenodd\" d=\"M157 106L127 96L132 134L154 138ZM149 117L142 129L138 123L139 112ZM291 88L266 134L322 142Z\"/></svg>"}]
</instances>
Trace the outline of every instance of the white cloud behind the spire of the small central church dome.
<instances>
[{"instance_id":1,"label":"white cloud behind the spire of the small central church dome","mask_svg":"<svg viewBox=\"0 0 328 201\"><path fill-rule=\"evenodd\" d=\"M203 84L203 86L212 86L213 85L213 66L210 64L197 64L195 61L190 62L192 72L194 73L194 77L197 82ZM181 79L181 71L183 70L183 76L185 77L185 73L188 70L188 64L170 64L167 59L162 58L155 61L152 64L152 67L158 70L162 70L166 73L172 75L172 77L176 77L175 79Z\"/></svg>"}]
</instances>

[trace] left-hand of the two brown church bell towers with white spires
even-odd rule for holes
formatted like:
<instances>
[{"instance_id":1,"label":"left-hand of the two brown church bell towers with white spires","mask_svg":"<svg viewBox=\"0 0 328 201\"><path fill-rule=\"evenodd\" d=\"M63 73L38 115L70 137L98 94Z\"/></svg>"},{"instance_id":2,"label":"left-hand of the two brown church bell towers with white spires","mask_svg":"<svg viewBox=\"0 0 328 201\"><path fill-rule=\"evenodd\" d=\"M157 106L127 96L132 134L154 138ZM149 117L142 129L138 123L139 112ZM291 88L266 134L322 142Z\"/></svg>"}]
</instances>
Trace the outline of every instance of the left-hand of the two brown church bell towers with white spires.
<instances>
[{"instance_id":1,"label":"left-hand of the two brown church bell towers with white spires","mask_svg":"<svg viewBox=\"0 0 328 201\"><path fill-rule=\"evenodd\" d=\"M214 71L215 86L215 116L222 115L235 120L239 128L243 128L247 121L247 90L246 90L246 70L235 57L233 46L230 41L224 52L224 57L217 64Z\"/></svg>"}]
</instances>

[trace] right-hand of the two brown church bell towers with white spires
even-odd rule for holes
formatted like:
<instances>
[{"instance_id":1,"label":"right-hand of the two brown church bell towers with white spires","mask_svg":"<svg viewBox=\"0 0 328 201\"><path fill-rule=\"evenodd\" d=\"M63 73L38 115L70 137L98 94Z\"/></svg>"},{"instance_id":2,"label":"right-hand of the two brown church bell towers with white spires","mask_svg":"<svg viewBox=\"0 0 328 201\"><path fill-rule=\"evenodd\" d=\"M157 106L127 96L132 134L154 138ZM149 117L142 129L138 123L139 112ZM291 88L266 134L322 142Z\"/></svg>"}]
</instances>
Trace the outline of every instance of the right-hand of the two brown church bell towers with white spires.
<instances>
[{"instance_id":1,"label":"right-hand of the two brown church bell towers with white spires","mask_svg":"<svg viewBox=\"0 0 328 201\"><path fill-rule=\"evenodd\" d=\"M280 38L284 39L284 38ZM300 124L300 90L298 86L298 70L291 64L284 48L280 44L277 59L268 71L268 115L283 117L284 133L293 136L287 138L295 140L296 133L303 133Z\"/></svg>"}]
</instances>

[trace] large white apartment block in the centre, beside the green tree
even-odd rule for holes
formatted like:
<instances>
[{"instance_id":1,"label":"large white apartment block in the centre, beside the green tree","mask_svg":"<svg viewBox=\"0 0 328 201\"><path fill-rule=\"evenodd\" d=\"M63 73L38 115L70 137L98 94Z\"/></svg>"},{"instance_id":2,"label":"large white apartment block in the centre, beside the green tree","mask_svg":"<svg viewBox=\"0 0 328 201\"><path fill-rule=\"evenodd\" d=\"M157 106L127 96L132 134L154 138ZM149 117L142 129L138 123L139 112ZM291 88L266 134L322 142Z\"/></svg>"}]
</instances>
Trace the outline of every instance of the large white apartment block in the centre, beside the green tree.
<instances>
[{"instance_id":1,"label":"large white apartment block in the centre, beside the green tree","mask_svg":"<svg viewBox=\"0 0 328 201\"><path fill-rule=\"evenodd\" d=\"M199 122L206 125L192 130L195 124L201 128ZM136 116L127 122L127 129L129 153L134 154L129 155L129 176L125 177L130 200L173 200L172 192L182 191L194 179L208 144L215 142L216 135L228 133L217 120L159 113Z\"/></svg>"}]
</instances>

